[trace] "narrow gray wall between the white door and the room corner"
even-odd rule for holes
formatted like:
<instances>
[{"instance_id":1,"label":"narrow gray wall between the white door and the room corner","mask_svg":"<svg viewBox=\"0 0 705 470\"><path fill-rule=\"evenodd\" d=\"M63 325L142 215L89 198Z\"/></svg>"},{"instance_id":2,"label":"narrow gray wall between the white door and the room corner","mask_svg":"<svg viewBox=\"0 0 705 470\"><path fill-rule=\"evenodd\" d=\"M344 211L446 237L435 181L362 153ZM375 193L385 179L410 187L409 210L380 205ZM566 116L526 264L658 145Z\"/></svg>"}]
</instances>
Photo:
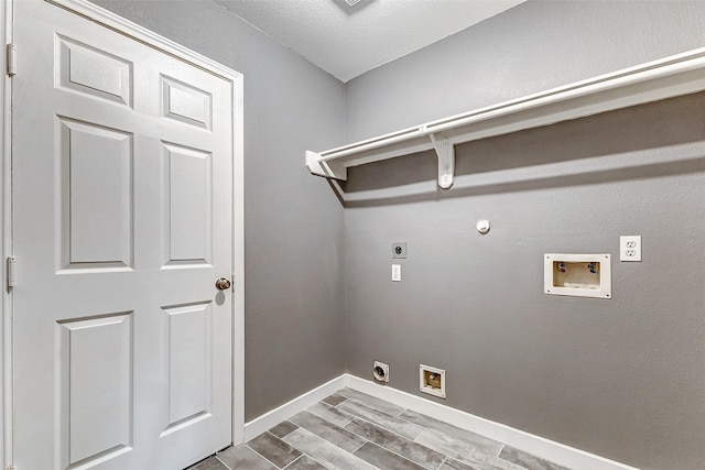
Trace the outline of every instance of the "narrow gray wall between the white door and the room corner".
<instances>
[{"instance_id":1,"label":"narrow gray wall between the white door and the room corner","mask_svg":"<svg viewBox=\"0 0 705 470\"><path fill-rule=\"evenodd\" d=\"M246 419L339 375L343 208L303 155L343 143L343 84L210 1L96 3L245 74Z\"/></svg>"}]
</instances>

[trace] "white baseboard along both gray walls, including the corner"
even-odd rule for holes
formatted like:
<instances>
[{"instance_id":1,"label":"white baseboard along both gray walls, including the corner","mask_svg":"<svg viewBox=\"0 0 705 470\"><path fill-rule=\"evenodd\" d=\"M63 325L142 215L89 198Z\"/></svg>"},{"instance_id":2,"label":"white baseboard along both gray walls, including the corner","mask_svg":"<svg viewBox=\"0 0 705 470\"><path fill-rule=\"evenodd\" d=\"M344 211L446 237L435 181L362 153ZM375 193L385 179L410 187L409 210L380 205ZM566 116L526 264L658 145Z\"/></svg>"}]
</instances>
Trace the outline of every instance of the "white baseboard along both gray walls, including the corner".
<instances>
[{"instance_id":1,"label":"white baseboard along both gray walls, including the corner","mask_svg":"<svg viewBox=\"0 0 705 470\"><path fill-rule=\"evenodd\" d=\"M495 423L387 385L379 385L375 382L347 373L304 393L291 402L285 403L249 423L246 423L245 441L259 436L272 426L276 426L279 423L289 419L296 413L306 409L314 403L319 402L326 396L346 386L381 400L387 400L388 402L412 409L416 413L432 416L462 429L480 434L489 437L490 439L498 440L516 447L517 449L533 453L534 456L539 456L543 459L574 470L638 470L636 467L619 463L574 447L565 446L540 436L534 436L533 434L514 429L503 424Z\"/></svg>"}]
</instances>

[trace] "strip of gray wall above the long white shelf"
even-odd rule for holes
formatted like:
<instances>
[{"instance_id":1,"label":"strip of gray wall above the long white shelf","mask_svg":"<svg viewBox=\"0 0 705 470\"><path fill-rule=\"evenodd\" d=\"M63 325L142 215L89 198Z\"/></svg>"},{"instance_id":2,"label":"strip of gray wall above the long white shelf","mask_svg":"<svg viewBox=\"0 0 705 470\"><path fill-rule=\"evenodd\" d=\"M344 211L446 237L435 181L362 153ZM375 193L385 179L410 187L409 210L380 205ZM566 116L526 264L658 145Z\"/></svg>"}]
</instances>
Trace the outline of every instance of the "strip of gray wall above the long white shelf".
<instances>
[{"instance_id":1,"label":"strip of gray wall above the long white shelf","mask_svg":"<svg viewBox=\"0 0 705 470\"><path fill-rule=\"evenodd\" d=\"M346 84L354 142L705 45L704 1L533 1Z\"/></svg>"}]
</instances>

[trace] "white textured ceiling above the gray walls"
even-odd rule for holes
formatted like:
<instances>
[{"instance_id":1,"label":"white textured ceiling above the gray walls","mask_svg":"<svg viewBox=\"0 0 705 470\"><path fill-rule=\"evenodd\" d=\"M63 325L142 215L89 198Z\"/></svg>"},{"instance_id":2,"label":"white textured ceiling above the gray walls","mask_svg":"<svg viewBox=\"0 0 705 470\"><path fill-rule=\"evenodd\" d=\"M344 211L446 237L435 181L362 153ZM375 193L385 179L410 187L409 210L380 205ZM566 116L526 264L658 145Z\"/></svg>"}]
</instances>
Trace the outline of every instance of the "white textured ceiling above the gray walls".
<instances>
[{"instance_id":1,"label":"white textured ceiling above the gray walls","mask_svg":"<svg viewBox=\"0 0 705 470\"><path fill-rule=\"evenodd\" d=\"M343 81L524 0L214 0Z\"/></svg>"}]
</instances>

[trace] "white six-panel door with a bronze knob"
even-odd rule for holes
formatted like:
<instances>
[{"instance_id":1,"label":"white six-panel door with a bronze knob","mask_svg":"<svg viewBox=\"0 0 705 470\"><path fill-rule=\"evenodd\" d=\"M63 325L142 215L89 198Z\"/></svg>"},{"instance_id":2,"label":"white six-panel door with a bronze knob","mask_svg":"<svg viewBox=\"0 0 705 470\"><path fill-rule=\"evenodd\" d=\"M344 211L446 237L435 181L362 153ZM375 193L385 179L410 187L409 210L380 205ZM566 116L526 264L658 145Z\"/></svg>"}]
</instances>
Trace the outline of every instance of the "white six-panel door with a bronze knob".
<instances>
[{"instance_id":1,"label":"white six-panel door with a bronze knob","mask_svg":"<svg viewBox=\"0 0 705 470\"><path fill-rule=\"evenodd\" d=\"M182 469L231 441L232 83L14 9L14 464Z\"/></svg>"}]
</instances>

